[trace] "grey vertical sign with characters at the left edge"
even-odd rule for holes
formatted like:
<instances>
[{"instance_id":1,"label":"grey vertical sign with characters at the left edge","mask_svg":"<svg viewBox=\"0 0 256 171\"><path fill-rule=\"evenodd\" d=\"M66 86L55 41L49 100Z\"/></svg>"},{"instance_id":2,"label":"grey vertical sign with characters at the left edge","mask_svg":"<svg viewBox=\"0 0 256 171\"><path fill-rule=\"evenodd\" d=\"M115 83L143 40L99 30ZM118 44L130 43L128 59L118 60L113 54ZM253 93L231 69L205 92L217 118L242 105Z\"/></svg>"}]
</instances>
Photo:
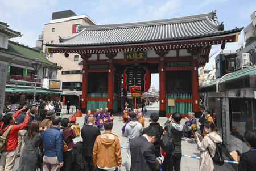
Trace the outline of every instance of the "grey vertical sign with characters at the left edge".
<instances>
[{"instance_id":1,"label":"grey vertical sign with characters at the left edge","mask_svg":"<svg viewBox=\"0 0 256 171\"><path fill-rule=\"evenodd\" d=\"M5 105L5 86L7 77L7 64L0 63L0 113L3 113Z\"/></svg>"}]
</instances>

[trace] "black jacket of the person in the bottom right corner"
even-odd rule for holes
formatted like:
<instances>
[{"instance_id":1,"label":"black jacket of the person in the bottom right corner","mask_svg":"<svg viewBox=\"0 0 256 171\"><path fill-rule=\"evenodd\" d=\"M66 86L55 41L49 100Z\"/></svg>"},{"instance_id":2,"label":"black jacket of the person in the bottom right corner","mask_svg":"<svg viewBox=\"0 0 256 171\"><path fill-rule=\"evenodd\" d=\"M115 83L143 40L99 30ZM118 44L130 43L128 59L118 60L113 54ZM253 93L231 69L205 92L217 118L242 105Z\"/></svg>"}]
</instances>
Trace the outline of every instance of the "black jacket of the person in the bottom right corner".
<instances>
[{"instance_id":1,"label":"black jacket of the person in the bottom right corner","mask_svg":"<svg viewBox=\"0 0 256 171\"><path fill-rule=\"evenodd\" d=\"M240 163L238 165L238 171L254 171L256 170L256 151L249 150L242 153L240 157Z\"/></svg>"}]
</instances>

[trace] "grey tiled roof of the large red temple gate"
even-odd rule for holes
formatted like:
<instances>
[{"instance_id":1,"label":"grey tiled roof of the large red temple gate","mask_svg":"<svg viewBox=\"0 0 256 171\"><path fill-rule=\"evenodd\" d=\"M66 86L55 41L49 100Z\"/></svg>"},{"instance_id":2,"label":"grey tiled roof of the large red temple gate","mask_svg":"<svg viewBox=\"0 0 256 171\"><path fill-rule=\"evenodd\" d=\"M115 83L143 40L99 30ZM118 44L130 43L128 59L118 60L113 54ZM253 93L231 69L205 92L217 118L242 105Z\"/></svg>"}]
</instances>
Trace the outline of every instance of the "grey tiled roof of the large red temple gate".
<instances>
[{"instance_id":1,"label":"grey tiled roof of the large red temple gate","mask_svg":"<svg viewBox=\"0 0 256 171\"><path fill-rule=\"evenodd\" d=\"M85 46L134 44L142 42L177 41L228 35L242 28L224 30L216 11L180 18L111 25L86 25L74 36L62 38L59 44L47 46Z\"/></svg>"}]
</instances>

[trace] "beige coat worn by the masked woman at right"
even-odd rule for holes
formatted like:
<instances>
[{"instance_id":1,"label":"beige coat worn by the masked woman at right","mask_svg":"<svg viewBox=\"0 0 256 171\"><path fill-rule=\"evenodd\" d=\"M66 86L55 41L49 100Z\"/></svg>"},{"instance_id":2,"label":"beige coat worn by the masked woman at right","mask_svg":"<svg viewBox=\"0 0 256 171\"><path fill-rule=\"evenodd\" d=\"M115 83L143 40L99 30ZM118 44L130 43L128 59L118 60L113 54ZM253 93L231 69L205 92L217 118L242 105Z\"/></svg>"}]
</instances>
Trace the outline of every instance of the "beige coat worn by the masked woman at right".
<instances>
[{"instance_id":1,"label":"beige coat worn by the masked woman at right","mask_svg":"<svg viewBox=\"0 0 256 171\"><path fill-rule=\"evenodd\" d=\"M209 155L207 147L209 147L210 154L212 156L215 155L216 143L221 143L221 137L216 133L212 132L210 134L205 135L202 142L197 142L197 147L201 153L200 160L200 171L216 171L218 170L217 165L215 165Z\"/></svg>"}]
</instances>

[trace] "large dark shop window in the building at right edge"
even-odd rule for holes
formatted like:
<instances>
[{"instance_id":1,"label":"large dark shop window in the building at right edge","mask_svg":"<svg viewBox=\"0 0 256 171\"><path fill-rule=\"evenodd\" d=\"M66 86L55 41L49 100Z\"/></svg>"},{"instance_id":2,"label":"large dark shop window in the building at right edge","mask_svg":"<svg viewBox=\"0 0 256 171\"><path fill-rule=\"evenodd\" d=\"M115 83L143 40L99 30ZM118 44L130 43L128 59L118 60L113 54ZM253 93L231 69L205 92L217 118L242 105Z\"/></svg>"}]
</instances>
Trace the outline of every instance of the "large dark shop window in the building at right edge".
<instances>
[{"instance_id":1,"label":"large dark shop window in the building at right edge","mask_svg":"<svg viewBox=\"0 0 256 171\"><path fill-rule=\"evenodd\" d=\"M256 100L232 99L229 104L230 131L242 140L246 131L256 129Z\"/></svg>"}]
</instances>

